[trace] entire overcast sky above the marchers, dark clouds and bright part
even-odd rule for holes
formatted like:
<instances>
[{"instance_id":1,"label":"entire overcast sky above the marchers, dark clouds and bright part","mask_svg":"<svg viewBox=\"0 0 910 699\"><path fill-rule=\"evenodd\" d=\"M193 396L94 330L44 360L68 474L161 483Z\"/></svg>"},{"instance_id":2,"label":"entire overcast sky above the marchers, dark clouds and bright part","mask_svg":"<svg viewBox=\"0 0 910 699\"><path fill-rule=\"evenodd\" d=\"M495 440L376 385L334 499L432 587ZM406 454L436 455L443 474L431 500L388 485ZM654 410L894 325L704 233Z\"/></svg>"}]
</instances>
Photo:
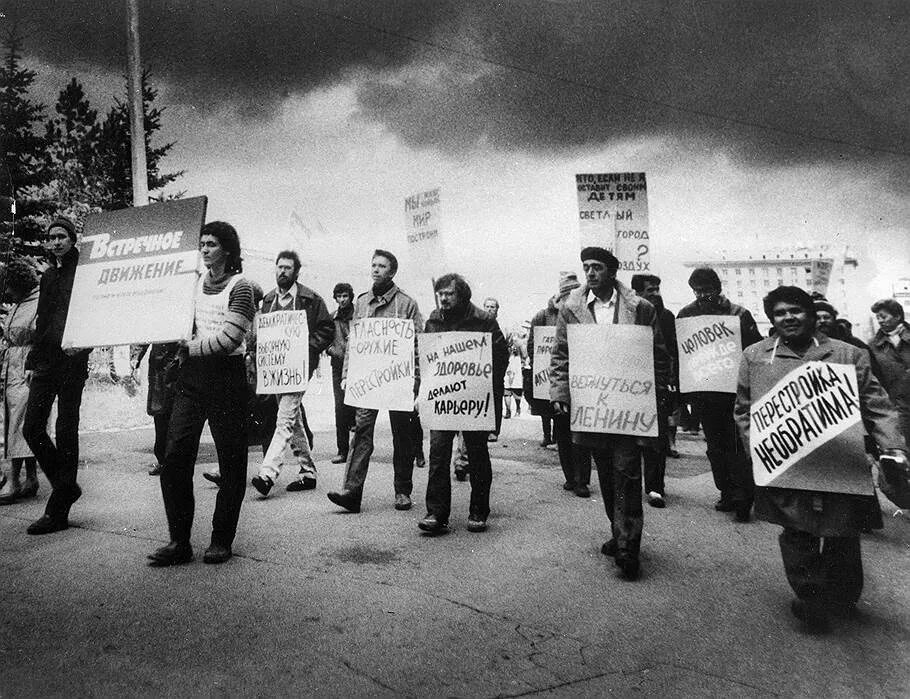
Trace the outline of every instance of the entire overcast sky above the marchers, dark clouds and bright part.
<instances>
[{"instance_id":1,"label":"entire overcast sky above the marchers, dark clouds and bright part","mask_svg":"<svg viewBox=\"0 0 910 699\"><path fill-rule=\"evenodd\" d=\"M527 317L580 266L576 172L647 173L671 307L721 248L850 245L870 302L910 274L906 2L139 4L175 189L247 245L294 242L324 295L362 290L374 246L428 288L403 199L439 186L449 266ZM3 7L38 98L121 91L125 0Z\"/></svg>"}]
</instances>

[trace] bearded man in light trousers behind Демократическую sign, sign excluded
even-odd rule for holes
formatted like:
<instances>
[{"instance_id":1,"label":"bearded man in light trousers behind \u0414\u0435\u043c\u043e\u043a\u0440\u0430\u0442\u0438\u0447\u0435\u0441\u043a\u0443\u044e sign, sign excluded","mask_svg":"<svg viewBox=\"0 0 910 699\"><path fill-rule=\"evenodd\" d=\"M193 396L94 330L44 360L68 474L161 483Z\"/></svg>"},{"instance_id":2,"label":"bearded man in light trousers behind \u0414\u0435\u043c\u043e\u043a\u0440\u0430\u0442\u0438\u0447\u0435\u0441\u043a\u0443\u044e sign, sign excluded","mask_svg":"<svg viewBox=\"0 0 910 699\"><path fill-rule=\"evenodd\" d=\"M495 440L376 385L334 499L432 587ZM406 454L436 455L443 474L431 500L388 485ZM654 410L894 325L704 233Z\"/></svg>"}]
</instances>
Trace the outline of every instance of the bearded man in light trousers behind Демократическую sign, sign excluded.
<instances>
[{"instance_id":1,"label":"bearded man in light trousers behind \u0414\u0435\u043c\u043e\u043a\u0440\u0430\u0442\u0438\u0447\u0435\u0441\u043a\u0443\u044e sign, sign excluded","mask_svg":"<svg viewBox=\"0 0 910 699\"><path fill-rule=\"evenodd\" d=\"M293 250L282 250L275 259L276 288L262 299L260 313L275 311L306 311L309 331L309 375L319 366L319 355L335 337L335 321L326 308L325 301L315 291L297 281L300 274L300 257ZM251 339L249 352L255 354L255 338ZM255 365L255 359L254 359ZM316 464L310 455L306 430L306 413L301 401L303 393L282 393L270 396L271 415L274 416L263 441L265 456L259 473L252 478L253 487L266 497L281 474L282 465L296 457L299 476L287 484L290 492L312 490L316 487Z\"/></svg>"}]
</instances>

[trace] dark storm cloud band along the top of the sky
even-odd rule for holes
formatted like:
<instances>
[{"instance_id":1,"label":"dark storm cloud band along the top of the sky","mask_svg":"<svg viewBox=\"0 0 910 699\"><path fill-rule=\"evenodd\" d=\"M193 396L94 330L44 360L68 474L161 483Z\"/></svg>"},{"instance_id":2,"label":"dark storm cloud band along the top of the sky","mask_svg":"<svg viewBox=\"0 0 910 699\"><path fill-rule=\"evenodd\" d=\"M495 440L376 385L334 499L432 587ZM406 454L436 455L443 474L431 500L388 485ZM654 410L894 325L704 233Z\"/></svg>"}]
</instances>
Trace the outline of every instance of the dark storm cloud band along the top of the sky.
<instances>
[{"instance_id":1,"label":"dark storm cloud band along the top of the sky","mask_svg":"<svg viewBox=\"0 0 910 699\"><path fill-rule=\"evenodd\" d=\"M910 153L904 2L140 5L144 61L178 98L251 118L356 75L361 114L418 147L657 136L758 163ZM120 69L122 6L30 0L27 49Z\"/></svg>"}]
</instances>

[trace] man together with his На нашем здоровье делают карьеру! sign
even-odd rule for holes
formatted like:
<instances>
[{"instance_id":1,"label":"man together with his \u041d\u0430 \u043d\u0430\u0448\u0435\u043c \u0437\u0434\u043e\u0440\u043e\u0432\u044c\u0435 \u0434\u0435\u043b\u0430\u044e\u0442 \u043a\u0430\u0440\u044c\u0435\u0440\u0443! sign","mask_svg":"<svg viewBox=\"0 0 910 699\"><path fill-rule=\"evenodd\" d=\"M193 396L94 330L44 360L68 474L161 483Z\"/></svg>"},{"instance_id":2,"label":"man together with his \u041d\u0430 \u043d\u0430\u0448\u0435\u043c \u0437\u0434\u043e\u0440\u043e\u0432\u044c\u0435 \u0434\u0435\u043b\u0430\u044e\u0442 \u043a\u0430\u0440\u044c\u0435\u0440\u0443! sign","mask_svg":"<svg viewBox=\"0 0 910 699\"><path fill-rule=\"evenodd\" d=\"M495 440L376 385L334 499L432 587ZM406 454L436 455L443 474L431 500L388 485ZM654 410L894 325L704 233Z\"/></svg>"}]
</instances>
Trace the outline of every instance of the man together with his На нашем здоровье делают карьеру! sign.
<instances>
[{"instance_id":1,"label":"man together with his \u041d\u0430 \u043d\u0430\u0448\u0435\u043c \u0437\u0434\u043e\u0440\u043e\u0432\u044c\u0435 \u0434\u0435\u043b\u0430\u044e\u0442 \u043a\u0430\u0440\u044c\u0435\u0440\u0443! sign","mask_svg":"<svg viewBox=\"0 0 910 699\"><path fill-rule=\"evenodd\" d=\"M487 435L496 425L495 397L502 393L509 347L499 323L471 303L471 287L464 278L446 274L433 288L439 308L430 314L419 340L424 369L422 421L430 427L430 472L427 515L417 526L430 534L448 530L452 508L449 462L452 440L460 431L471 464L467 528L482 532L487 528L493 482Z\"/></svg>"}]
</instances>

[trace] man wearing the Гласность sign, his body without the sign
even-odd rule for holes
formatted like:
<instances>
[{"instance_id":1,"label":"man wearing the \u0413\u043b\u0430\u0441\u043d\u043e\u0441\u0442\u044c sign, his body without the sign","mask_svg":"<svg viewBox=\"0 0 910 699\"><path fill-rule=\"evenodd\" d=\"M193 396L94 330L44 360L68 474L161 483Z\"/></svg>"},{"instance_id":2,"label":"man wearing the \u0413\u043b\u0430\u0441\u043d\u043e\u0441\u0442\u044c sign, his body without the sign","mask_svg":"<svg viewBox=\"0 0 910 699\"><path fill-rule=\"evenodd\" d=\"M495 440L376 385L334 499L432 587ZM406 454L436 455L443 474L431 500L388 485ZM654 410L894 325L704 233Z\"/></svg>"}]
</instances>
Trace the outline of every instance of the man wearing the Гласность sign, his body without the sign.
<instances>
[{"instance_id":1,"label":"man wearing the \u0413\u043b\u0430\u0441\u043d\u043e\u0441\u0442\u044c sign, his body without the sign","mask_svg":"<svg viewBox=\"0 0 910 699\"><path fill-rule=\"evenodd\" d=\"M398 288L393 281L398 272L398 258L388 250L376 250L371 262L373 287L357 297L354 317L361 318L405 318L414 323L414 332L423 329L423 319L417 302ZM342 370L342 387L347 383L350 352L345 355ZM416 363L416 351L415 351ZM417 381L415 379L415 393ZM395 509L411 509L411 492L414 488L414 430L413 410L390 410L389 423L392 427L392 466L395 472ZM373 455L373 431L378 410L357 408L354 418L354 437L351 453L344 474L344 486L340 491L330 491L327 497L349 512L360 512L363 498L363 484Z\"/></svg>"}]
</instances>

